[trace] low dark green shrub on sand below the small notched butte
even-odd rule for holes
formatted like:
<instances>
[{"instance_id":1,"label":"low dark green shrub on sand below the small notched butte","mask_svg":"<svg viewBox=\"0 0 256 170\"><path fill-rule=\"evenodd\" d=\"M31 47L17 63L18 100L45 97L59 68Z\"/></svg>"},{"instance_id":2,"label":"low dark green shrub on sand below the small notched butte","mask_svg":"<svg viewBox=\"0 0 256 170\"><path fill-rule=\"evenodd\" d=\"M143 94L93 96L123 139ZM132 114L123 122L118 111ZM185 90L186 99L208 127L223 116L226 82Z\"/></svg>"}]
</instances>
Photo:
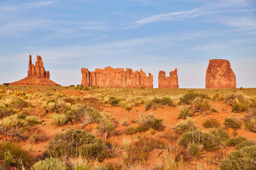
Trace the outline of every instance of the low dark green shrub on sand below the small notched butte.
<instances>
[{"instance_id":1,"label":"low dark green shrub on sand below the small notched butte","mask_svg":"<svg viewBox=\"0 0 256 170\"><path fill-rule=\"evenodd\" d=\"M149 100L147 103L145 103L145 110L147 111L148 109L155 109L156 107L161 107L161 106L175 107L175 103L169 97L163 97L163 98L154 97L154 99Z\"/></svg>"}]
</instances>

